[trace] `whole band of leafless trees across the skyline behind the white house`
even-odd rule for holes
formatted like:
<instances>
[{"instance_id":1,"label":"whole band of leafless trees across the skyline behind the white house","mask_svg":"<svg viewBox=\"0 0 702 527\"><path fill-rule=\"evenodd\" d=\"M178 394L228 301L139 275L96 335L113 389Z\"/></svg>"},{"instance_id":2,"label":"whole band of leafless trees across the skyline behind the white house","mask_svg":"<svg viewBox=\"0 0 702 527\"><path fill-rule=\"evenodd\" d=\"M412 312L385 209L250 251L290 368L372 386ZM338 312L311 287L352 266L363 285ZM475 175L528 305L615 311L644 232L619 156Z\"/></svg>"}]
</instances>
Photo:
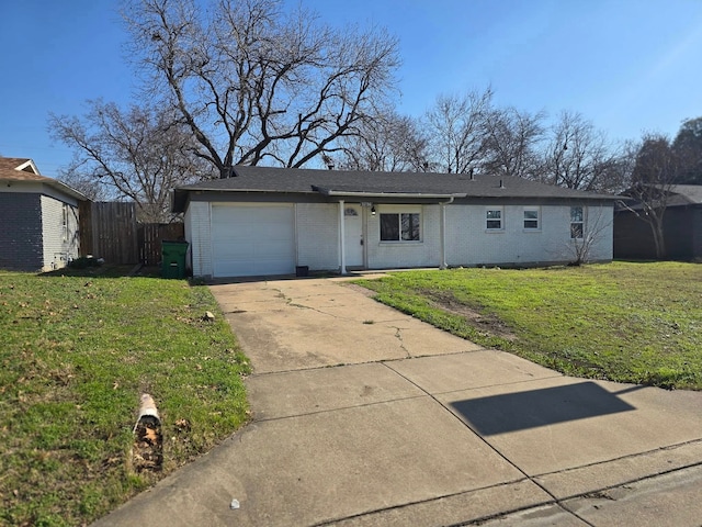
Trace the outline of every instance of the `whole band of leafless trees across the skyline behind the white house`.
<instances>
[{"instance_id":1,"label":"whole band of leafless trees across the skyline behind the white house","mask_svg":"<svg viewBox=\"0 0 702 527\"><path fill-rule=\"evenodd\" d=\"M173 187L229 177L235 165L321 159L619 192L675 161L676 182L702 181L702 117L672 145L645 137L636 154L579 113L547 126L543 112L498 108L491 88L440 96L417 119L395 110L398 42L382 29L335 29L283 0L123 0L122 12L139 103L89 102L84 116L53 115L49 128L76 152L67 182L134 200L145 217L166 217Z\"/></svg>"}]
</instances>

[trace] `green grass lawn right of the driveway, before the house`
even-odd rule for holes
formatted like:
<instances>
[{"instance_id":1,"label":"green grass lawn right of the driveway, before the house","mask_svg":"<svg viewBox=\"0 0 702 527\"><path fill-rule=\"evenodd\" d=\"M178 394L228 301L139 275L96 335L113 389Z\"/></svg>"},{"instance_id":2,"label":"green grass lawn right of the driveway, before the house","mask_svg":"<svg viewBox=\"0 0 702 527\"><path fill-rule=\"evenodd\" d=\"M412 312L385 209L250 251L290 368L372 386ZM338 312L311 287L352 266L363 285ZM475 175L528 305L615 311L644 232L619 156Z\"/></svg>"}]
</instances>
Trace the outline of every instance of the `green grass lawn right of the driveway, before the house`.
<instances>
[{"instance_id":1,"label":"green grass lawn right of the driveway, before the house","mask_svg":"<svg viewBox=\"0 0 702 527\"><path fill-rule=\"evenodd\" d=\"M397 272L376 300L563 373L702 390L702 265Z\"/></svg>"}]
</instances>

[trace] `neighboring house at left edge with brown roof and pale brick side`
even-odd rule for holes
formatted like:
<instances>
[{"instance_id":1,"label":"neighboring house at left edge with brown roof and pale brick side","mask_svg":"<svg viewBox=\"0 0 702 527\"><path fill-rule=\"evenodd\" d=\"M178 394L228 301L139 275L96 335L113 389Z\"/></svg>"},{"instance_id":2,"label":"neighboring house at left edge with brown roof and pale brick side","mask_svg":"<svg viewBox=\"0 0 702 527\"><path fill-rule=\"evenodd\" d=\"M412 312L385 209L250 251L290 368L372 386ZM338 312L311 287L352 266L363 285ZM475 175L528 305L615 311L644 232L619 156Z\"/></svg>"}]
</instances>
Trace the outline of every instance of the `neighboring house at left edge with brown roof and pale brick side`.
<instances>
[{"instance_id":1,"label":"neighboring house at left edge with brown roof and pale brick side","mask_svg":"<svg viewBox=\"0 0 702 527\"><path fill-rule=\"evenodd\" d=\"M78 257L82 193L39 175L32 159L0 157L0 269L49 271Z\"/></svg>"}]
</instances>

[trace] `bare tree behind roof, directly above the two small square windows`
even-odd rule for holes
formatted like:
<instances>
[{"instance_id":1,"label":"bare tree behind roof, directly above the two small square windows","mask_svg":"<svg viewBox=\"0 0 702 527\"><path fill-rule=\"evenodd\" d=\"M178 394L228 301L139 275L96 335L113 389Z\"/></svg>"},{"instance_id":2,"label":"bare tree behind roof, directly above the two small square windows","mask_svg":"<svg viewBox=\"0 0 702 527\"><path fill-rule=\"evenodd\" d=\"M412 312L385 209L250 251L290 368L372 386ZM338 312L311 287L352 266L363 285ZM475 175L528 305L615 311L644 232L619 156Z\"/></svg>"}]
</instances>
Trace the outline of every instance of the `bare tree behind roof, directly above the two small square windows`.
<instances>
[{"instance_id":1,"label":"bare tree behind roof, directly above the two small square windows","mask_svg":"<svg viewBox=\"0 0 702 527\"><path fill-rule=\"evenodd\" d=\"M496 109L486 119L483 167L490 173L537 178L536 147L543 138L544 114L522 112L513 106Z\"/></svg>"}]
</instances>

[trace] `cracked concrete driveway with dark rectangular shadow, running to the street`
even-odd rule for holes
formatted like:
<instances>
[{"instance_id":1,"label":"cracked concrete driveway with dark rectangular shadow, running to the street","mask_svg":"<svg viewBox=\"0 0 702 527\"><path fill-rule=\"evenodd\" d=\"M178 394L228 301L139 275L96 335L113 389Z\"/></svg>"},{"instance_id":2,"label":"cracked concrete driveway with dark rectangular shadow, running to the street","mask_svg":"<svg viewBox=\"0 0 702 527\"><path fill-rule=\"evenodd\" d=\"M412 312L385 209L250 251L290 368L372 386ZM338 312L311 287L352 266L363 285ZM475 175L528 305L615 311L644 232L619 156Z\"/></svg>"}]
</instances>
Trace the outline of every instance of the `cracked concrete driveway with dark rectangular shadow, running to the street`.
<instances>
[{"instance_id":1,"label":"cracked concrete driveway with dark rectangular shadow, running to the street","mask_svg":"<svg viewBox=\"0 0 702 527\"><path fill-rule=\"evenodd\" d=\"M212 291L253 422L95 525L700 525L702 393L567 378L341 279Z\"/></svg>"}]
</instances>

